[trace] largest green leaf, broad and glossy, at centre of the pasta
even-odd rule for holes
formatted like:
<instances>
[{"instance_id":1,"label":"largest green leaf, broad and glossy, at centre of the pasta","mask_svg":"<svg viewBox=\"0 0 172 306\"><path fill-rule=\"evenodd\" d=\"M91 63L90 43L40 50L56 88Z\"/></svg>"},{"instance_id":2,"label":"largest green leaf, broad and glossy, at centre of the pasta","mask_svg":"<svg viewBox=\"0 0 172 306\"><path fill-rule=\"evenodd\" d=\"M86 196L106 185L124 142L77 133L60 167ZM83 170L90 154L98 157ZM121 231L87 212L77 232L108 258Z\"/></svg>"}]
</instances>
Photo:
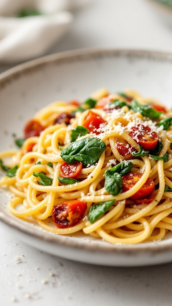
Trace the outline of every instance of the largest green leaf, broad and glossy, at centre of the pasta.
<instances>
[{"instance_id":1,"label":"largest green leaf, broad and glossy, at centre of the pasta","mask_svg":"<svg viewBox=\"0 0 172 306\"><path fill-rule=\"evenodd\" d=\"M69 144L61 152L60 156L69 164L78 160L84 165L94 165L105 149L106 144L104 141L95 137L88 137Z\"/></svg>"}]
</instances>

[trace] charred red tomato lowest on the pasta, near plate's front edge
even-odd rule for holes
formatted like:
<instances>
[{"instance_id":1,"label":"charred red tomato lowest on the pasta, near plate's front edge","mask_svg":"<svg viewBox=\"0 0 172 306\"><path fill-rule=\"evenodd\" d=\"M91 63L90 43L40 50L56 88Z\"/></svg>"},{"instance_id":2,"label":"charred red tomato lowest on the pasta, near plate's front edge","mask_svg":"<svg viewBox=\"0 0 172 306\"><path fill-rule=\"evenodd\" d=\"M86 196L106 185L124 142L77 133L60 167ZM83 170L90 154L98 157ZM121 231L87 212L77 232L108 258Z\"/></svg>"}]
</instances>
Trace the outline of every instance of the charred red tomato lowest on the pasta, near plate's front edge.
<instances>
[{"instance_id":1,"label":"charred red tomato lowest on the pasta, near plate's front edge","mask_svg":"<svg viewBox=\"0 0 172 306\"><path fill-rule=\"evenodd\" d=\"M54 206L53 222L55 226L61 229L74 226L83 217L86 208L86 203L79 200L70 200Z\"/></svg>"}]
</instances>

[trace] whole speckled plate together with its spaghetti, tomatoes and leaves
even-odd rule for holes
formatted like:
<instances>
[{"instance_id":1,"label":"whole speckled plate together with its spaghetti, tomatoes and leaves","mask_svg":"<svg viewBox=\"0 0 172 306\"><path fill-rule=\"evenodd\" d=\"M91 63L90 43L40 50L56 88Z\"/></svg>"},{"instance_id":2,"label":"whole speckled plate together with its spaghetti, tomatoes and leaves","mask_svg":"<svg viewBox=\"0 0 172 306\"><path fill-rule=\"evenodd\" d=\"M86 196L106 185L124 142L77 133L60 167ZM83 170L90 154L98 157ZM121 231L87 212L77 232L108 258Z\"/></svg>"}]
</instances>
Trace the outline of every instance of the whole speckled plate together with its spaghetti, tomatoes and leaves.
<instances>
[{"instance_id":1,"label":"whole speckled plate together with its spaghetti, tomatoes and leaves","mask_svg":"<svg viewBox=\"0 0 172 306\"><path fill-rule=\"evenodd\" d=\"M171 62L80 50L3 73L1 225L81 262L171 261Z\"/></svg>"}]
</instances>

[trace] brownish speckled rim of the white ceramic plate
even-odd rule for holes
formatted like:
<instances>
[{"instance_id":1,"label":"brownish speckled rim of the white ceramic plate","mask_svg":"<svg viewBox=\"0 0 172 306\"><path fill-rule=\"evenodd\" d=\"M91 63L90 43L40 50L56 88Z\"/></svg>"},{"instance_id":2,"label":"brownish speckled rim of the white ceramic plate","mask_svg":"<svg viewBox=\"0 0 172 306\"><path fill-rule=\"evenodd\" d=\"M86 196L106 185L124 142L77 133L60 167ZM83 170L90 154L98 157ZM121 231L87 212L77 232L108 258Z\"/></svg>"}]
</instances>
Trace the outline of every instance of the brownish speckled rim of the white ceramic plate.
<instances>
[{"instance_id":1,"label":"brownish speckled rim of the white ceramic plate","mask_svg":"<svg viewBox=\"0 0 172 306\"><path fill-rule=\"evenodd\" d=\"M4 86L8 86L8 84L22 75L33 72L35 69L39 69L41 66L45 66L46 64L56 62L71 62L72 60L84 60L90 57L97 58L103 56L124 56L124 57L135 57L135 58L149 58L151 60L158 61L166 61L172 63L172 53L159 52L159 51L150 51L150 50L132 50L132 49L79 49L73 51L65 51L57 54L50 54L38 59L34 59L20 65L17 65L7 71L3 72L0 75L0 90L4 88ZM6 214L4 211L0 210L0 220L4 222L7 226L21 231L29 236L38 238L41 241L47 241L53 243L54 245L61 245L72 248L83 248L88 251L98 251L98 252L121 252L123 254L135 254L136 252L159 252L172 250L172 239L166 239L162 241L162 244L151 243L144 245L116 245L116 244L99 244L98 241L94 241L94 243L86 243L80 240L73 241L70 237L63 235L53 235L51 233L47 233L44 230L39 231L35 230L34 227L30 227L25 222L21 222L21 220L14 218L14 216Z\"/></svg>"}]
</instances>

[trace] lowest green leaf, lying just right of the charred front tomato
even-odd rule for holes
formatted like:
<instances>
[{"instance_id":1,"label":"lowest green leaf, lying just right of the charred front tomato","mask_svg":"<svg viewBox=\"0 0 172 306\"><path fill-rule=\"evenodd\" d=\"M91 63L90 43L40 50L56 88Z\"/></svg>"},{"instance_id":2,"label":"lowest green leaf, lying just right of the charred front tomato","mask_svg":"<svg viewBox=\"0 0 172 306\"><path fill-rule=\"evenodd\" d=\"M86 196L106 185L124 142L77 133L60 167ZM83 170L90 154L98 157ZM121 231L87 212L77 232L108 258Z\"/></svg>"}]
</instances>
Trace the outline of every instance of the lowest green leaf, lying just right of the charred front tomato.
<instances>
[{"instance_id":1,"label":"lowest green leaf, lying just right of the charred front tomato","mask_svg":"<svg viewBox=\"0 0 172 306\"><path fill-rule=\"evenodd\" d=\"M109 208L114 204L114 202L115 200L93 204L88 213L88 220L91 223L97 221L105 214L105 212L109 210Z\"/></svg>"}]
</instances>

